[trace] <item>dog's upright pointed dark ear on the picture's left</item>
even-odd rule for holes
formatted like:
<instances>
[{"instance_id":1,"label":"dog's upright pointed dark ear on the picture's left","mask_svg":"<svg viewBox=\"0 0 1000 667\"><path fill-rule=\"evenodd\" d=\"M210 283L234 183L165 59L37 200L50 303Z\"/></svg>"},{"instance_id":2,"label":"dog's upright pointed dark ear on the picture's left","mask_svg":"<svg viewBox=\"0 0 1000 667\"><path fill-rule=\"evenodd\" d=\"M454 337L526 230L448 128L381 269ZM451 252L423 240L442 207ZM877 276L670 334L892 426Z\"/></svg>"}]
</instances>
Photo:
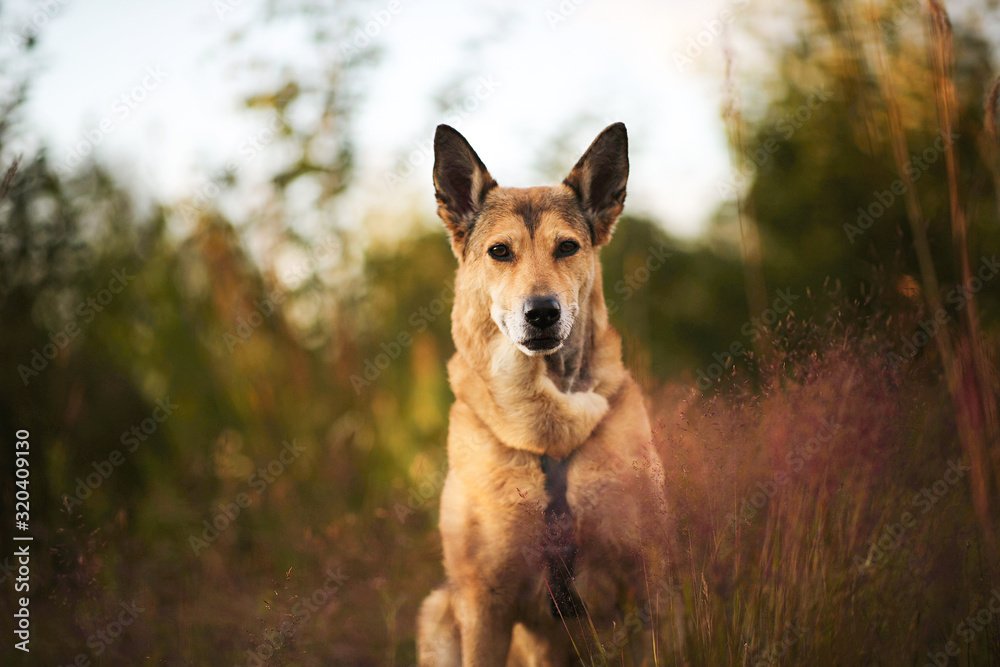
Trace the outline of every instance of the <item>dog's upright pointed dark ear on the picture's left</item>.
<instances>
[{"instance_id":1,"label":"dog's upright pointed dark ear on the picture's left","mask_svg":"<svg viewBox=\"0 0 1000 667\"><path fill-rule=\"evenodd\" d=\"M483 198L496 185L465 137L453 127L438 125L434 134L434 196L438 215L459 256Z\"/></svg>"}]
</instances>

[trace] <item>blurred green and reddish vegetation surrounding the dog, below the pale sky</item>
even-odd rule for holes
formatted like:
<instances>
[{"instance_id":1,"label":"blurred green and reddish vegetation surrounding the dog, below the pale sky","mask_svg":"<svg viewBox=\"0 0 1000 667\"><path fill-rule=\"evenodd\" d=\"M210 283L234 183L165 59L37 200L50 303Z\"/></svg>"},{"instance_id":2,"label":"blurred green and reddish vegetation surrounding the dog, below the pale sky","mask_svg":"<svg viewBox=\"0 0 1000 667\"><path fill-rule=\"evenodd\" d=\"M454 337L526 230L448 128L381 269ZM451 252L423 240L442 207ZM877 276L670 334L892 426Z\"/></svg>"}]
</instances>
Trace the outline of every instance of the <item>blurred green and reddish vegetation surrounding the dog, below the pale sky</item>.
<instances>
[{"instance_id":1,"label":"blurred green and reddish vegetation surrounding the dog, below the pale sky","mask_svg":"<svg viewBox=\"0 0 1000 667\"><path fill-rule=\"evenodd\" d=\"M603 251L670 512L655 605L594 628L583 664L639 664L638 642L659 665L1000 664L995 21L792 5L780 40L763 9L743 17L773 70L726 52L732 179L704 232L627 203ZM240 217L242 172L147 205L98 160L22 150L32 74L11 62L0 505L30 492L30 530L5 515L4 533L33 537L32 640L10 640L5 539L0 660L413 664L443 577L456 264L430 216L383 234L389 214L340 213L371 63L248 96L291 157ZM319 231L289 223L302 179Z\"/></svg>"}]
</instances>

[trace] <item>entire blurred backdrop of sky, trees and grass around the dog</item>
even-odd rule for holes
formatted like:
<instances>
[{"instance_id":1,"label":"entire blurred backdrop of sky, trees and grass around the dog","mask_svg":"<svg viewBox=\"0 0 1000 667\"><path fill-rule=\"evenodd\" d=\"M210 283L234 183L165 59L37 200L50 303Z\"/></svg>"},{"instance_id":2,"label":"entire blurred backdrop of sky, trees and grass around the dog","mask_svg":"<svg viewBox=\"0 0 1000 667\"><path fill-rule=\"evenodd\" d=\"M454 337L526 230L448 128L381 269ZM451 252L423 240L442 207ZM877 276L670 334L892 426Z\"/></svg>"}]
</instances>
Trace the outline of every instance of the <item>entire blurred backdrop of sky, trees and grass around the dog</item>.
<instances>
[{"instance_id":1,"label":"entire blurred backdrop of sky, trees and grass around the dog","mask_svg":"<svg viewBox=\"0 0 1000 667\"><path fill-rule=\"evenodd\" d=\"M995 0L4 3L5 664L412 664L434 127L529 185L618 120L659 663L996 664L998 46Z\"/></svg>"}]
</instances>

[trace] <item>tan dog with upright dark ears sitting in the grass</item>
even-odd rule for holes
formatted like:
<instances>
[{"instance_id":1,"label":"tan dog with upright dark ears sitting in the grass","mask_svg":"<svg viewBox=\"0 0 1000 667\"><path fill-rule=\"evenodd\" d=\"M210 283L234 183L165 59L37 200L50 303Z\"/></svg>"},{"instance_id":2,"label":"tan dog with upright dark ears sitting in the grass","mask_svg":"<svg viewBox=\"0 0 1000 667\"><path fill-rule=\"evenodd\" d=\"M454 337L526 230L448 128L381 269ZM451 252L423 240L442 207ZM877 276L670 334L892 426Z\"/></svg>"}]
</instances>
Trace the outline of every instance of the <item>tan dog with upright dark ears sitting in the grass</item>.
<instances>
[{"instance_id":1,"label":"tan dog with upright dark ears sitting in the grass","mask_svg":"<svg viewBox=\"0 0 1000 667\"><path fill-rule=\"evenodd\" d=\"M628 171L622 123L560 185L531 188L498 186L461 134L437 128L438 215L458 258L455 403L440 512L447 581L420 608L420 665L596 659L636 643L653 613L663 470L599 259Z\"/></svg>"}]
</instances>

